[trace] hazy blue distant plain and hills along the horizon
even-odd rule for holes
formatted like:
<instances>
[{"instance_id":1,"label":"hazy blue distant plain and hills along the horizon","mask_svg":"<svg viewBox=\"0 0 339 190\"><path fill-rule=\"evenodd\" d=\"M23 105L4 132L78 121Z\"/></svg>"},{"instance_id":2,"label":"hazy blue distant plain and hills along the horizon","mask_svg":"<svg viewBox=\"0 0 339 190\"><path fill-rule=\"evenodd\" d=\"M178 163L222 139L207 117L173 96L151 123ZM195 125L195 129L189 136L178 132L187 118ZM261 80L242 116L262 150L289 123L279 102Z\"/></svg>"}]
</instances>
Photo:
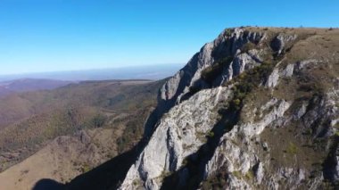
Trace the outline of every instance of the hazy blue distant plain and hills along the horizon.
<instances>
[{"instance_id":1,"label":"hazy blue distant plain and hills along the horizon","mask_svg":"<svg viewBox=\"0 0 339 190\"><path fill-rule=\"evenodd\" d=\"M70 70L0 76L0 96L10 95L13 92L50 90L85 80L160 79L173 75L181 67L182 64L174 63L102 70Z\"/></svg>"}]
</instances>

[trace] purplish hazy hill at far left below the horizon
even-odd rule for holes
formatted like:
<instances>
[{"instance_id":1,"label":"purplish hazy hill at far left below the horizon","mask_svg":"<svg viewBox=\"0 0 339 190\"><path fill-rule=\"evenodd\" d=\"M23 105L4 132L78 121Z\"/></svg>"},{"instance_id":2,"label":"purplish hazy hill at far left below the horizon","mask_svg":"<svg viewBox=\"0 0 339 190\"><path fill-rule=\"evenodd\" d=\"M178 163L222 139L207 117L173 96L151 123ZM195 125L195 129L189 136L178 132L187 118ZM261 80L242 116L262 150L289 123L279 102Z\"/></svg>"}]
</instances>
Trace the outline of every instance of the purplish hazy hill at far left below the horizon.
<instances>
[{"instance_id":1,"label":"purplish hazy hill at far left below the horizon","mask_svg":"<svg viewBox=\"0 0 339 190\"><path fill-rule=\"evenodd\" d=\"M34 90L54 89L63 87L73 83L65 80L55 79L37 79L37 78L21 78L0 82L0 96L10 95L14 92L27 92Z\"/></svg>"}]
</instances>

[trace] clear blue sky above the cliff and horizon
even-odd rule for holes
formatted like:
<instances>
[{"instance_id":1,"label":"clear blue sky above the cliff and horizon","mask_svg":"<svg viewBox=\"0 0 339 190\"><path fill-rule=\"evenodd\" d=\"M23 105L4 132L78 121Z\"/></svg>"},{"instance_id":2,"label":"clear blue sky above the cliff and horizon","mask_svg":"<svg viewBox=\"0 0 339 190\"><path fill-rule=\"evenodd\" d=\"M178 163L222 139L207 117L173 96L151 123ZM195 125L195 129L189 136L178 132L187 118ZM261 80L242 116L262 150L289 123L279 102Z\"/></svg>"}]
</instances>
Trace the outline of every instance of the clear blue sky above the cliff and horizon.
<instances>
[{"instance_id":1,"label":"clear blue sky above the cliff and horizon","mask_svg":"<svg viewBox=\"0 0 339 190\"><path fill-rule=\"evenodd\" d=\"M0 74L187 62L222 29L338 27L337 0L0 0Z\"/></svg>"}]
</instances>

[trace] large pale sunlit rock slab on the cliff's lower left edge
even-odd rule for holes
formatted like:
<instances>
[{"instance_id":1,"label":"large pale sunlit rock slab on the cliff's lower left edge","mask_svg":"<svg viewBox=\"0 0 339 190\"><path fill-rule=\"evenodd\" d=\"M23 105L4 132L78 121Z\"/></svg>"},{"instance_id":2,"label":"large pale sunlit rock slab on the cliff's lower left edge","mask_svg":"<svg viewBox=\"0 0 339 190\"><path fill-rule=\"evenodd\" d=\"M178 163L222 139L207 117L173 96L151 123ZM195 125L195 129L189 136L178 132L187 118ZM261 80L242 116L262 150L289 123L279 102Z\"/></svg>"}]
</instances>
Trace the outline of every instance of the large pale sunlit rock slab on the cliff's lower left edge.
<instances>
[{"instance_id":1,"label":"large pale sunlit rock slab on the cliff's lower left edge","mask_svg":"<svg viewBox=\"0 0 339 190\"><path fill-rule=\"evenodd\" d=\"M161 119L145 150L128 170L120 189L133 189L140 180L147 189L158 189L164 172L178 170L186 156L197 151L217 121L215 106L227 100L227 87L202 90L174 106Z\"/></svg>"}]
</instances>

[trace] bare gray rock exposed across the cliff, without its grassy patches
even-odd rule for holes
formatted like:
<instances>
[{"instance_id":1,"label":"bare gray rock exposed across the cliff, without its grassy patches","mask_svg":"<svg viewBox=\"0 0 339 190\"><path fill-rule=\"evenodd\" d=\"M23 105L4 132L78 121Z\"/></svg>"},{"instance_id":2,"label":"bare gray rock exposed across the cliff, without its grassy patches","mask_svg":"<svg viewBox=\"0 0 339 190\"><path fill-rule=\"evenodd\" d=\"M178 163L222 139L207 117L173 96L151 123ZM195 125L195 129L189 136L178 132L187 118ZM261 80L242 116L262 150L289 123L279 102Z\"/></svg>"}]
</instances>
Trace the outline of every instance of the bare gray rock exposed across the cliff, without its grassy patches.
<instances>
[{"instance_id":1,"label":"bare gray rock exposed across the cliff, without its grassy patches","mask_svg":"<svg viewBox=\"0 0 339 190\"><path fill-rule=\"evenodd\" d=\"M159 189L164 174L178 172L179 169L180 180L176 186L185 186L186 179L190 178L184 165L186 157L196 153L206 143L206 135L219 121L219 108L227 107L227 102L232 100L234 94L232 85L223 87L224 82L231 81L245 70L259 66L263 62L262 57L267 52L271 54L271 49L265 49L269 48L265 43L261 44L260 50L255 48L243 50L245 44L260 45L264 39L267 39L264 32L251 32L245 29L224 30L213 42L204 45L182 70L161 87L160 104L161 106L166 104L169 112L158 121L153 136L128 170L120 189L135 189L137 187L133 183L135 180L141 182L142 188ZM296 40L296 35L278 34L270 47L276 51L275 55L284 55ZM231 57L231 62L222 65L216 72L218 74L213 76L215 78L211 84L205 81L202 77L203 70L226 57ZM210 160L206 160L207 163L201 166L204 179L213 177L222 168L223 172L227 173L229 189L255 189L258 186L262 189L298 189L302 186L302 181L307 179L310 171L283 166L277 166L274 171L269 170L272 164L271 147L274 146L263 142L266 140L260 139L260 135L265 128L283 128L295 120L305 128L314 126L312 127L315 131L314 138L333 136L337 132L333 127L339 120L338 87L328 90L322 96L312 98L314 106L309 106L309 102L305 101L294 108L291 106L294 101L273 96L274 88L281 78L295 77L299 71L316 66L318 62L306 59L290 63L282 59L277 63L269 78L258 84L272 92L267 97L270 98L269 101L257 104L254 108L251 103L244 102L243 109L249 108L250 111L242 112L241 116L247 120L237 121L233 128L220 134L222 136L218 139L219 143L209 157ZM282 67L283 63L286 65L285 68ZM290 110L293 110L292 113ZM329 125L332 128L328 128ZM335 159L335 166L330 172L332 178L337 179L339 158ZM254 172L255 178L238 177L239 173L244 177L251 172ZM322 179L322 175L318 175L308 186L310 189L318 189ZM284 181L284 185L281 185L281 181Z\"/></svg>"}]
</instances>

